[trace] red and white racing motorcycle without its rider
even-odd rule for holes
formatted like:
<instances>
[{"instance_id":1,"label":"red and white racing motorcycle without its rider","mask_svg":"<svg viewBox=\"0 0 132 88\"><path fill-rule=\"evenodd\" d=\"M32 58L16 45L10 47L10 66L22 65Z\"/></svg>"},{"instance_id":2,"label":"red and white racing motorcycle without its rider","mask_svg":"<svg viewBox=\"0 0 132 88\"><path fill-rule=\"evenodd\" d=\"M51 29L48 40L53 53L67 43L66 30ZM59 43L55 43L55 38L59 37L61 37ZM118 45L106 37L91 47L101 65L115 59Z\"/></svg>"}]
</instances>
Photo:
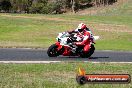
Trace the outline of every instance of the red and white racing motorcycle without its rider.
<instances>
[{"instance_id":1,"label":"red and white racing motorcycle without its rider","mask_svg":"<svg viewBox=\"0 0 132 88\"><path fill-rule=\"evenodd\" d=\"M99 37L96 36L96 39ZM95 50L94 44L90 43L90 50L87 53L83 52L84 46L77 46L73 42L81 41L77 33L69 34L68 32L59 33L57 42L48 48L47 54L49 57L63 56L79 56L90 57ZM96 40L95 39L95 40Z\"/></svg>"}]
</instances>

